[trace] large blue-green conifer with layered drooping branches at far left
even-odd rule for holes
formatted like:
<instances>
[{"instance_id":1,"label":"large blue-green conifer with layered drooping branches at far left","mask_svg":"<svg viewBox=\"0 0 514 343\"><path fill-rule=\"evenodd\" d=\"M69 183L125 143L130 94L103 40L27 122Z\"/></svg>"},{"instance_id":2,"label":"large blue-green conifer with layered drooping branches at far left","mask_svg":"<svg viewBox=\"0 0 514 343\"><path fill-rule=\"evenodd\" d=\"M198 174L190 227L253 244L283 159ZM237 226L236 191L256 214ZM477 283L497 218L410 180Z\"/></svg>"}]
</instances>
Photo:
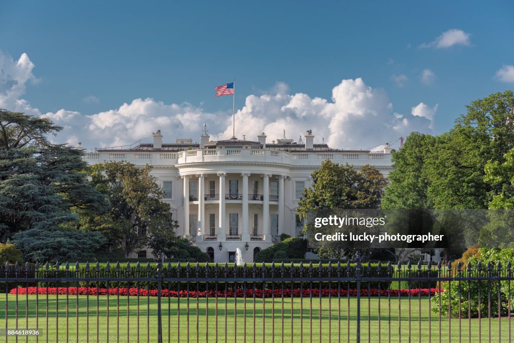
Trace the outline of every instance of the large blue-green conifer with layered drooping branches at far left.
<instances>
[{"instance_id":1,"label":"large blue-green conifer with layered drooping branches at far left","mask_svg":"<svg viewBox=\"0 0 514 343\"><path fill-rule=\"evenodd\" d=\"M84 153L48 140L61 129L46 118L0 110L0 240L12 241L33 261L54 257L39 254L47 249L43 237L80 242L74 254L102 243L98 234L71 224L78 221L77 209L102 210L106 202L87 183Z\"/></svg>"}]
</instances>

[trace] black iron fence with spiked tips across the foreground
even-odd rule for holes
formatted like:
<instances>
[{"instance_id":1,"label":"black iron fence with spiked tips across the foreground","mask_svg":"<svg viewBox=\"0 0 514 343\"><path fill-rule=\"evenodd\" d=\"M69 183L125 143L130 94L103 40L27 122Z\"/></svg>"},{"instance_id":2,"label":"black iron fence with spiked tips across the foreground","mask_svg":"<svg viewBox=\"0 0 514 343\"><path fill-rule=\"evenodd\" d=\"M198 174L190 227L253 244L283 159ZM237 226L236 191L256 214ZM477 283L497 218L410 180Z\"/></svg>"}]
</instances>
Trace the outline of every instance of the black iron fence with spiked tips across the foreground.
<instances>
[{"instance_id":1,"label":"black iron fence with spiked tips across the foreground","mask_svg":"<svg viewBox=\"0 0 514 343\"><path fill-rule=\"evenodd\" d=\"M6 342L511 340L510 263L27 263L1 272Z\"/></svg>"}]
</instances>

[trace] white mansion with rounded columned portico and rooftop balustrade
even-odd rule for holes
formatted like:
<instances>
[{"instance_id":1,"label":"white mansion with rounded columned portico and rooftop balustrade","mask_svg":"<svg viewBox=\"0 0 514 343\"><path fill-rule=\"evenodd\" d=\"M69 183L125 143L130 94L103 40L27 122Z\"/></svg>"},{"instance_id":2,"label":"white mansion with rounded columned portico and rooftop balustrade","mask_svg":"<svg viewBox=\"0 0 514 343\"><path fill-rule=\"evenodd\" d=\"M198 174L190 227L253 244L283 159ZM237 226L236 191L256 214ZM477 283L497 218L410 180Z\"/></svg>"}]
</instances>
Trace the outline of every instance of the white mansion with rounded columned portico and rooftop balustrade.
<instances>
[{"instance_id":1,"label":"white mansion with rounded columned portico and rooftop balustrade","mask_svg":"<svg viewBox=\"0 0 514 343\"><path fill-rule=\"evenodd\" d=\"M380 152L339 150L314 143L308 130L304 142L283 138L266 141L232 138L210 141L204 125L200 142L177 139L162 143L160 130L153 143L134 147L95 149L85 154L89 164L125 160L153 166L153 175L166 193L177 236L186 237L215 262L232 262L240 248L245 262L279 240L281 233L299 236L303 223L296 212L310 174L326 159L356 169L373 165L387 176L392 170L389 145ZM150 257L151 251L135 252Z\"/></svg>"}]
</instances>

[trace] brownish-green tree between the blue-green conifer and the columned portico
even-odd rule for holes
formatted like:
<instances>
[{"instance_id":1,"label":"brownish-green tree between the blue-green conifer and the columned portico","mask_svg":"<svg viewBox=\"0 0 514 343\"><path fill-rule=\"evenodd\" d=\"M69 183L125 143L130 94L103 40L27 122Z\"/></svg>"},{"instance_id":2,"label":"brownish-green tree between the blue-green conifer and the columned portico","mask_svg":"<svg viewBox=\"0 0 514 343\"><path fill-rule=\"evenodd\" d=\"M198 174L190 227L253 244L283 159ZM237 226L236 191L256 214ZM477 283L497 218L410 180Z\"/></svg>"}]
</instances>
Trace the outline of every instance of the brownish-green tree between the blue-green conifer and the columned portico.
<instances>
[{"instance_id":1,"label":"brownish-green tree between the blue-green conifer and the columned portico","mask_svg":"<svg viewBox=\"0 0 514 343\"><path fill-rule=\"evenodd\" d=\"M166 252L176 241L170 205L164 203L163 190L155 183L152 166L137 168L125 161L109 161L91 166L91 185L109 199L108 221L87 221L89 229L104 229L111 243L120 244L128 256L136 248L149 246ZM113 242L114 241L114 242Z\"/></svg>"}]
</instances>

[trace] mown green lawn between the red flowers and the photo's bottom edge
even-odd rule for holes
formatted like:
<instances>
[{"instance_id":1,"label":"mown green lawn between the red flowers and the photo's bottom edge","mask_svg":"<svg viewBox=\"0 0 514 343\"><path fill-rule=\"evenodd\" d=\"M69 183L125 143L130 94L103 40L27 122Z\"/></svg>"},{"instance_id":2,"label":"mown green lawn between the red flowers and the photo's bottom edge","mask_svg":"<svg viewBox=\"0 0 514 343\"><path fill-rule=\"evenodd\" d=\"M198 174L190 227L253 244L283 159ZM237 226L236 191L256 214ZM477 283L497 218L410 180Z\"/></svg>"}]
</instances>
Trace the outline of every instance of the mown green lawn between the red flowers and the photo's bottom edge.
<instances>
[{"instance_id":1,"label":"mown green lawn between the red flowers and the photo's bottom edge","mask_svg":"<svg viewBox=\"0 0 514 343\"><path fill-rule=\"evenodd\" d=\"M137 298L130 297L128 300L128 317L127 317L127 297L120 297L119 309L116 297L109 297L109 315L107 317L107 303L106 297L99 297L98 301L100 304L100 312L97 319L97 297L89 297L89 320L87 319L87 301L85 296L79 296L79 312L77 322L77 297L70 297L68 304L68 318L66 316L66 297L59 296L59 318L56 318L56 296L48 297L48 330L46 329L46 296L39 296L39 320L38 326L42 329L42 335L40 341L46 341L48 335L48 341L66 341L66 334L69 336L70 342L77 341L77 327L78 327L78 342L96 342L97 341L97 330L99 332L98 341L106 342L107 335L109 341L117 341L117 335L119 333L119 341L137 341L138 327L140 341L146 342L147 335L149 335L150 342L157 341L157 299L141 297L139 299L139 323L137 321ZM28 328L36 328L36 296L28 296L28 303L26 302L26 296L18 296L18 327L27 327L27 316L26 316L26 305L28 305ZM15 306L15 295L9 295L8 301L8 328L16 327L16 306ZM148 302L149 301L149 302ZM170 302L169 302L170 301ZM0 295L0 309L5 309L6 297ZM177 316L178 302L177 298L163 298L162 299L162 321L163 321L163 341L168 341L168 335L170 333L171 341L216 341L216 332L218 341L240 342L244 341L244 330L246 322L246 337L247 341L253 341L255 335L256 341L260 342L271 342L271 341L282 341L284 336L285 341L310 341L310 336L313 336L313 341L319 341L320 328L321 328L321 341L338 341L338 330L341 330L341 341L347 341L348 335L351 341L356 339L356 326L357 326L357 299L350 299L350 308L348 310L347 298L341 299L341 321L338 320L339 314L339 303L337 298L333 298L331 301L328 298L322 298L321 303L319 298L313 298L312 300L312 313L310 313L310 300L309 298L303 299L303 306L300 304L300 298L293 300L293 313L292 313L292 328L291 328L291 299L276 299L274 302L274 316L272 314L272 299L265 300L265 311L263 316L263 300L256 299L255 301L255 312L253 299L248 298L246 300L246 316L244 300L241 298L237 299L237 303L234 302L233 298L227 299L225 305L225 299L218 299L218 310L216 317L215 300L209 299L207 303L206 299L199 299L198 304L196 298L189 299L189 324L188 324L188 308L187 299L180 299L180 316ZM368 341L369 333L371 332L371 341L379 341L379 333L381 341L387 341L389 339L389 332L391 334L391 341L409 341L409 335L411 340L414 342L422 341L427 342L429 340L429 332L432 334L432 341L438 341L439 337L439 322L438 315L431 313L431 320L429 321L429 302L428 297L421 298L421 318L418 318L419 304L417 298L412 298L410 306L410 318L409 321L409 300L408 298L402 298L398 306L398 299L391 299L391 330L389 330L389 313L388 313L388 299L381 298L362 298L361 300L361 340ZM147 329L147 306L150 306L150 319L149 327ZM321 305L321 323L320 323L320 305ZM379 305L380 305L380 318L379 318ZM227 312L225 312L225 306ZM282 312L282 306L284 311ZM198 307L198 311L197 311ZM208 308L208 311L207 311ZM303 314L301 309L303 308ZM401 311L401 322L398 324L398 310ZM368 324L368 314L370 311L370 324ZM5 322L5 310L1 311L2 320ZM119 315L118 315L119 312ZM347 320L347 314L350 313ZM227 316L225 316L227 313ZM254 316L255 313L255 316ZM284 313L282 319L281 314ZM207 316L208 314L208 316ZM198 320L197 320L198 315ZM310 320L312 317L312 320ZM380 323L379 323L380 319ZM108 320L108 324L107 324ZM58 321L58 323L57 323ZM264 321L264 323L263 323ZM216 330L217 322L217 330ZM255 322L255 323L254 323ZM429 331L429 322L431 331ZM226 323L226 324L225 324ZM339 328L340 324L340 328ZM507 341L508 339L508 324L509 320L503 318L501 321L502 327L502 339ZM380 325L380 326L379 326ZM87 339L87 326L89 326L89 340ZM449 321L447 318L443 318L440 324L440 330L442 331L442 340L448 341L448 326ZM451 333L452 341L458 341L459 334L462 334L462 340L468 341L468 319L461 321L462 329L459 330L458 319L451 320ZM498 318L491 319L491 341L499 340L499 320ZM5 327L5 326L2 326ZM189 327L189 330L188 330ZM348 327L350 332L348 333ZM409 328L410 327L410 328ZM488 319L482 319L482 339L489 341L489 321ZM57 329L59 328L59 333ZM128 328L128 329L127 329ZM177 330L179 328L179 330ZM225 329L227 328L227 330ZM255 328L255 330L253 329ZM107 333L108 329L108 333ZM419 329L421 331L421 339L419 339ZM401 332L399 331L401 330ZM471 319L471 341L478 341L479 338L479 320ZM513 329L514 330L514 329ZM197 332L199 337L197 337ZM292 339L291 339L292 334ZM180 336L179 336L180 335ZM59 339L57 339L59 337ZM0 337L0 341L3 337ZM9 342L14 342L14 337L10 337ZM21 338L20 341L25 341L25 337ZM36 341L35 337L29 337L28 341Z\"/></svg>"}]
</instances>

